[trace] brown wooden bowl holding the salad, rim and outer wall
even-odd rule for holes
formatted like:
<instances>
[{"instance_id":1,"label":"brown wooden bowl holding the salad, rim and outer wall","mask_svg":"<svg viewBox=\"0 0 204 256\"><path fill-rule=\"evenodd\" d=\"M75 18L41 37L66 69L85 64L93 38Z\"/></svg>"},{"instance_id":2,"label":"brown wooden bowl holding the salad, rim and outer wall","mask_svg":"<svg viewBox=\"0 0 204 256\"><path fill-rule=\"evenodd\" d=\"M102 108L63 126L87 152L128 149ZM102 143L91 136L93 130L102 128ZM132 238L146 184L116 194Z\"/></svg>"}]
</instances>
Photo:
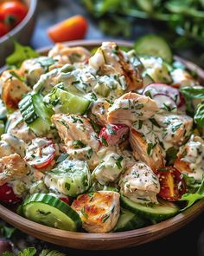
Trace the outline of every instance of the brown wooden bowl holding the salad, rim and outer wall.
<instances>
[{"instance_id":1,"label":"brown wooden bowl holding the salad, rim and outer wall","mask_svg":"<svg viewBox=\"0 0 204 256\"><path fill-rule=\"evenodd\" d=\"M99 46L102 42L103 41L74 41L67 43L67 45L84 46L87 49L92 49ZM118 43L118 45L127 47L132 46L132 43L129 42L117 40L114 40L114 42ZM39 52L42 55L46 55L48 53L48 49L50 49L50 47L40 49ZM197 70L200 80L204 82L204 70L200 69L194 63L183 60L178 56L175 56L175 59L186 63L189 69ZM194 203L192 207L189 207L182 213L175 215L175 217L152 226L119 233L76 233L43 226L31 220L26 220L6 207L0 206L0 217L10 223L10 225L16 226L22 232L58 246L67 246L75 249L86 250L111 250L138 246L153 240L158 240L167 236L169 233L173 233L182 228L182 226L185 226L188 222L194 220L203 212L204 200L199 200Z\"/></svg>"}]
</instances>

